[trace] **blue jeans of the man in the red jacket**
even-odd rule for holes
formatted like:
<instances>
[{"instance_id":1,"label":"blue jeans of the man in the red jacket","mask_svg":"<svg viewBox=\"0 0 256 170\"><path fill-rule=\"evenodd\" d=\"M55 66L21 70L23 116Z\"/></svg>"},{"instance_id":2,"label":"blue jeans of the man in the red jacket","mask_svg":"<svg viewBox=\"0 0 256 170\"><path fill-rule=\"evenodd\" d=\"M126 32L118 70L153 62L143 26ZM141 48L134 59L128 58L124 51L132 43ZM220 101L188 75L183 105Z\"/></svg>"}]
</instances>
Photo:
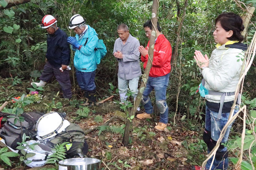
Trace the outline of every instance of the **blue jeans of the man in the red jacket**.
<instances>
[{"instance_id":1,"label":"blue jeans of the man in the red jacket","mask_svg":"<svg viewBox=\"0 0 256 170\"><path fill-rule=\"evenodd\" d=\"M166 107L166 89L169 83L170 73L165 76L160 77L148 77L146 88L143 92L143 100L148 102L144 105L145 111L147 114L153 113L153 106L151 104L151 100L148 97L149 93L154 89L156 101L164 100L164 106ZM160 120L164 124L168 123L168 106L163 114L160 114Z\"/></svg>"}]
</instances>

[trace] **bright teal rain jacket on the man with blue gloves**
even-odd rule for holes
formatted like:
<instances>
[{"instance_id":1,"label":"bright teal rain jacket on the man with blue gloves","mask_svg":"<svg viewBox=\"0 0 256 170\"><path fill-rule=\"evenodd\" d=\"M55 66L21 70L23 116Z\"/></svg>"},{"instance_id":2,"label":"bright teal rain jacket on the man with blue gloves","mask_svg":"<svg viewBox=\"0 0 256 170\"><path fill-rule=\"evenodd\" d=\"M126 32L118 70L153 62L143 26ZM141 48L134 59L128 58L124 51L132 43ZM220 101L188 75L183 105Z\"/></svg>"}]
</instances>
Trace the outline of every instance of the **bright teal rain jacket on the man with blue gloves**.
<instances>
[{"instance_id":1,"label":"bright teal rain jacket on the man with blue gloves","mask_svg":"<svg viewBox=\"0 0 256 170\"><path fill-rule=\"evenodd\" d=\"M79 39L79 35L76 34L76 40L80 45L83 47L78 49L74 49L72 47L72 50L76 51L75 57L74 57L74 65L76 67L76 70L82 71L82 72L92 72L97 69L97 63L96 58L94 56L94 48L97 46L99 38L96 31L88 26L88 30L84 34L83 37ZM85 42L88 39L86 45Z\"/></svg>"}]
</instances>

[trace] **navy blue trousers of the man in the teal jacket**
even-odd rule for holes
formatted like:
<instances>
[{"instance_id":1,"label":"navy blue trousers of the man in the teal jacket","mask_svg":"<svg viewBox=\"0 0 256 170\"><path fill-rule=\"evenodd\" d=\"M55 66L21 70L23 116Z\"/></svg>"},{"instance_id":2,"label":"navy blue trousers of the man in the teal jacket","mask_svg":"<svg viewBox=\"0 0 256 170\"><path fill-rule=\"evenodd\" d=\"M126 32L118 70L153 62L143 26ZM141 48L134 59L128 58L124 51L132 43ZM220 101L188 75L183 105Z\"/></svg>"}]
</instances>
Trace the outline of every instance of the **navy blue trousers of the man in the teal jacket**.
<instances>
[{"instance_id":1,"label":"navy blue trousers of the man in the teal jacket","mask_svg":"<svg viewBox=\"0 0 256 170\"><path fill-rule=\"evenodd\" d=\"M82 72L76 70L76 79L79 87L84 91L94 91L96 85L94 83L96 70L92 72Z\"/></svg>"}]
</instances>

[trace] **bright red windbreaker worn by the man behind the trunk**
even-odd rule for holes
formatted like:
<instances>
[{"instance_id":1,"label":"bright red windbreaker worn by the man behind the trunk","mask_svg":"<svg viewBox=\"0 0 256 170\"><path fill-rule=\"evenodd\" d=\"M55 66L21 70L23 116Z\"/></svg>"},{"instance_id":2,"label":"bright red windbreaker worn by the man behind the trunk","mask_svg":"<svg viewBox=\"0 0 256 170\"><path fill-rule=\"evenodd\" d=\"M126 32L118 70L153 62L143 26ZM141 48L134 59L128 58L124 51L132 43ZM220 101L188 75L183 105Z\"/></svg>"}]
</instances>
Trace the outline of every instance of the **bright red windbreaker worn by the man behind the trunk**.
<instances>
[{"instance_id":1,"label":"bright red windbreaker worn by the man behind the trunk","mask_svg":"<svg viewBox=\"0 0 256 170\"><path fill-rule=\"evenodd\" d=\"M148 45L149 47L149 41ZM172 47L170 42L165 38L164 34L157 37L154 47L154 58L153 65L150 69L150 77L160 77L164 76L171 71L171 57L172 57ZM144 63L144 70L148 63L148 55L141 55L141 61ZM149 61L150 62L150 61Z\"/></svg>"}]
</instances>

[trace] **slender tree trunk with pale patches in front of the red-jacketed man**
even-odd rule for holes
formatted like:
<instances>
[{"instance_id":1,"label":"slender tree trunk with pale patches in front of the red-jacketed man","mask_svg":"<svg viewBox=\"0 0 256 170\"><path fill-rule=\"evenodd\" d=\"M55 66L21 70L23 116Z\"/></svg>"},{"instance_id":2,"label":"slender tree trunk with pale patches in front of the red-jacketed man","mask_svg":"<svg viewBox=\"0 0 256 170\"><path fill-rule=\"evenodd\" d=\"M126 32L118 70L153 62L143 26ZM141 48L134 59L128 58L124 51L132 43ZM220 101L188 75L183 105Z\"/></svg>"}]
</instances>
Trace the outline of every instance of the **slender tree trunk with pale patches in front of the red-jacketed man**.
<instances>
[{"instance_id":1,"label":"slender tree trunk with pale patches in front of the red-jacketed man","mask_svg":"<svg viewBox=\"0 0 256 170\"><path fill-rule=\"evenodd\" d=\"M123 137L123 145L127 146L129 144L129 133L130 133L130 129L131 129L131 125L132 125L132 116L135 116L135 112L140 104L140 100L142 98L142 94L145 90L147 81L148 81L148 75L149 75L149 71L152 67L152 62L153 62L153 55L154 55L154 46L155 46L155 40L156 40L156 26L157 26L157 10L158 10L158 2L157 0L153 1L153 5L152 5L152 32L151 32L151 36L150 36L150 42L149 42L149 49L148 49L148 63L147 66L145 68L144 74L142 76L142 82L139 88L139 92L137 94L136 100L134 102L134 106L132 107L132 109L129 112L129 118L131 120L128 120L125 124L125 130L124 130L124 137ZM154 28L154 29L153 29Z\"/></svg>"}]
</instances>

